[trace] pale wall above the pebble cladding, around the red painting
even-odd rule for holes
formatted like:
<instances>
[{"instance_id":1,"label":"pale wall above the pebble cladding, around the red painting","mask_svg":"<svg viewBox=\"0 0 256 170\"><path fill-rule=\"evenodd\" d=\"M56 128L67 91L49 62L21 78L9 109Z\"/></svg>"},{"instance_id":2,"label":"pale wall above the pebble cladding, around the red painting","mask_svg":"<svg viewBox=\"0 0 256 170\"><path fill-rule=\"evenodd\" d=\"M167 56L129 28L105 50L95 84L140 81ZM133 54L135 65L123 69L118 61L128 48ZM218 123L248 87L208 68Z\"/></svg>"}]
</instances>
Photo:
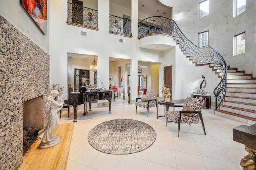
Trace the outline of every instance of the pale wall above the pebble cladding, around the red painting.
<instances>
[{"instance_id":1,"label":"pale wall above the pebble cladding, around the red painting","mask_svg":"<svg viewBox=\"0 0 256 170\"><path fill-rule=\"evenodd\" d=\"M0 15L49 54L49 6L47 6L47 34L41 31L20 4L20 0L0 0Z\"/></svg>"}]
</instances>

